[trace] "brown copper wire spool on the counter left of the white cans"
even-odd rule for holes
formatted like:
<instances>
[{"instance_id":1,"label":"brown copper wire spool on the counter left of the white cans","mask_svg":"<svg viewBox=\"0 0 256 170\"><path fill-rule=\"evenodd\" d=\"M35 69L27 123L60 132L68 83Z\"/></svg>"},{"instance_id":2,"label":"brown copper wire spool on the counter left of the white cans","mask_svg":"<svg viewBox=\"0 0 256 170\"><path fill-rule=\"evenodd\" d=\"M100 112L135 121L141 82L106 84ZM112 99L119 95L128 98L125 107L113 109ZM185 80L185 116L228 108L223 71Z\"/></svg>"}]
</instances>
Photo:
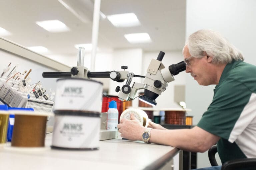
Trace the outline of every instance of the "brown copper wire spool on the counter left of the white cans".
<instances>
[{"instance_id":1,"label":"brown copper wire spool on the counter left of the white cans","mask_svg":"<svg viewBox=\"0 0 256 170\"><path fill-rule=\"evenodd\" d=\"M15 114L11 146L44 147L47 116Z\"/></svg>"}]
</instances>

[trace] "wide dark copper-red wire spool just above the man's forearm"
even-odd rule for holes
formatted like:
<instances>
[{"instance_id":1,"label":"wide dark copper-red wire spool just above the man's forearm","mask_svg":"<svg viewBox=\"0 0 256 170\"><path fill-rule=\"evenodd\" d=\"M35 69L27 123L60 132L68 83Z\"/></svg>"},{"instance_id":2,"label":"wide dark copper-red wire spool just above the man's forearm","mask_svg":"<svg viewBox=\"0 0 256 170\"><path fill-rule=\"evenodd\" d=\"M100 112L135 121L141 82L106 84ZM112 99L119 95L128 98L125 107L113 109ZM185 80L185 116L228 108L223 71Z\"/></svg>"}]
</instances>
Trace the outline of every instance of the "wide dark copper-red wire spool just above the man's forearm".
<instances>
[{"instance_id":1,"label":"wide dark copper-red wire spool just above the man's forearm","mask_svg":"<svg viewBox=\"0 0 256 170\"><path fill-rule=\"evenodd\" d=\"M165 124L186 125L186 112L165 111Z\"/></svg>"}]
</instances>

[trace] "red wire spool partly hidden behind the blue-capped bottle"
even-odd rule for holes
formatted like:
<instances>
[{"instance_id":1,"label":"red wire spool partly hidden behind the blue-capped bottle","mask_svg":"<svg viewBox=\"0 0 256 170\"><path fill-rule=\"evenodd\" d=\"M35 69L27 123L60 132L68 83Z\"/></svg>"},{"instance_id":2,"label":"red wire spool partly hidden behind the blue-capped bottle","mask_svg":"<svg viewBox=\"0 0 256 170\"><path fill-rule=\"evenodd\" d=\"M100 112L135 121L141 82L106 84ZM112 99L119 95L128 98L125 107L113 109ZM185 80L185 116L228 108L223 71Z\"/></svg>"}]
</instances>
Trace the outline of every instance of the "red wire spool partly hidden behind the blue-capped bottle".
<instances>
[{"instance_id":1,"label":"red wire spool partly hidden behind the blue-capped bottle","mask_svg":"<svg viewBox=\"0 0 256 170\"><path fill-rule=\"evenodd\" d=\"M118 99L118 96L108 96L110 98L112 98L114 101L116 101L116 105L117 105L117 110L118 110L118 122L119 122L119 119L120 119L120 115L122 114L123 112L123 103L119 103L119 102L122 102L121 100ZM102 108L101 108L101 112L107 112L108 111L108 106L109 106L109 103L108 102L111 102L112 99L108 98L106 96L103 96L102 98Z\"/></svg>"}]
</instances>

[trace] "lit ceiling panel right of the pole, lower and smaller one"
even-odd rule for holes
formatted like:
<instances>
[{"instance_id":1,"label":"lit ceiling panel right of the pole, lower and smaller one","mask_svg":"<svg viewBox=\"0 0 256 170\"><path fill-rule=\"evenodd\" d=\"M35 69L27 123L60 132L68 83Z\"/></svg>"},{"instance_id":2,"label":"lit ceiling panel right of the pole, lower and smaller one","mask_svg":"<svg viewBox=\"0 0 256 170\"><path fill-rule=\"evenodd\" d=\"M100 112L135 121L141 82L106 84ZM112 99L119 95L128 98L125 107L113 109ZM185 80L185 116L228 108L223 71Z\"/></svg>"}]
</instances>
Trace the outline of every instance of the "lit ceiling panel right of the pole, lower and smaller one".
<instances>
[{"instance_id":1,"label":"lit ceiling panel right of the pole, lower and smaller one","mask_svg":"<svg viewBox=\"0 0 256 170\"><path fill-rule=\"evenodd\" d=\"M135 34L125 34L124 37L130 43L146 43L152 42L148 33L135 33Z\"/></svg>"}]
</instances>

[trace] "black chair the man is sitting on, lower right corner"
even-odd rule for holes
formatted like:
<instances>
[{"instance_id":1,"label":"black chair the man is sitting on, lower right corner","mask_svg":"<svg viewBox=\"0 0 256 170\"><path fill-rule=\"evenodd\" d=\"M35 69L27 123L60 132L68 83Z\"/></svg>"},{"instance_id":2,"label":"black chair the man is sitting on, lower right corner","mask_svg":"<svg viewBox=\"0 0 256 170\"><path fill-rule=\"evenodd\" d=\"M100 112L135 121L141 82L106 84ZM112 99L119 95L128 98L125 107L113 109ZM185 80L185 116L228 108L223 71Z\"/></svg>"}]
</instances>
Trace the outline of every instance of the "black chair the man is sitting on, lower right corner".
<instances>
[{"instance_id":1,"label":"black chair the man is sitting on, lower right corner","mask_svg":"<svg viewBox=\"0 0 256 170\"><path fill-rule=\"evenodd\" d=\"M218 166L215 159L215 154L217 153L217 146L214 145L208 150L208 157L212 166ZM225 162L221 170L240 170L240 169L256 169L256 158L245 158L236 159Z\"/></svg>"}]
</instances>

